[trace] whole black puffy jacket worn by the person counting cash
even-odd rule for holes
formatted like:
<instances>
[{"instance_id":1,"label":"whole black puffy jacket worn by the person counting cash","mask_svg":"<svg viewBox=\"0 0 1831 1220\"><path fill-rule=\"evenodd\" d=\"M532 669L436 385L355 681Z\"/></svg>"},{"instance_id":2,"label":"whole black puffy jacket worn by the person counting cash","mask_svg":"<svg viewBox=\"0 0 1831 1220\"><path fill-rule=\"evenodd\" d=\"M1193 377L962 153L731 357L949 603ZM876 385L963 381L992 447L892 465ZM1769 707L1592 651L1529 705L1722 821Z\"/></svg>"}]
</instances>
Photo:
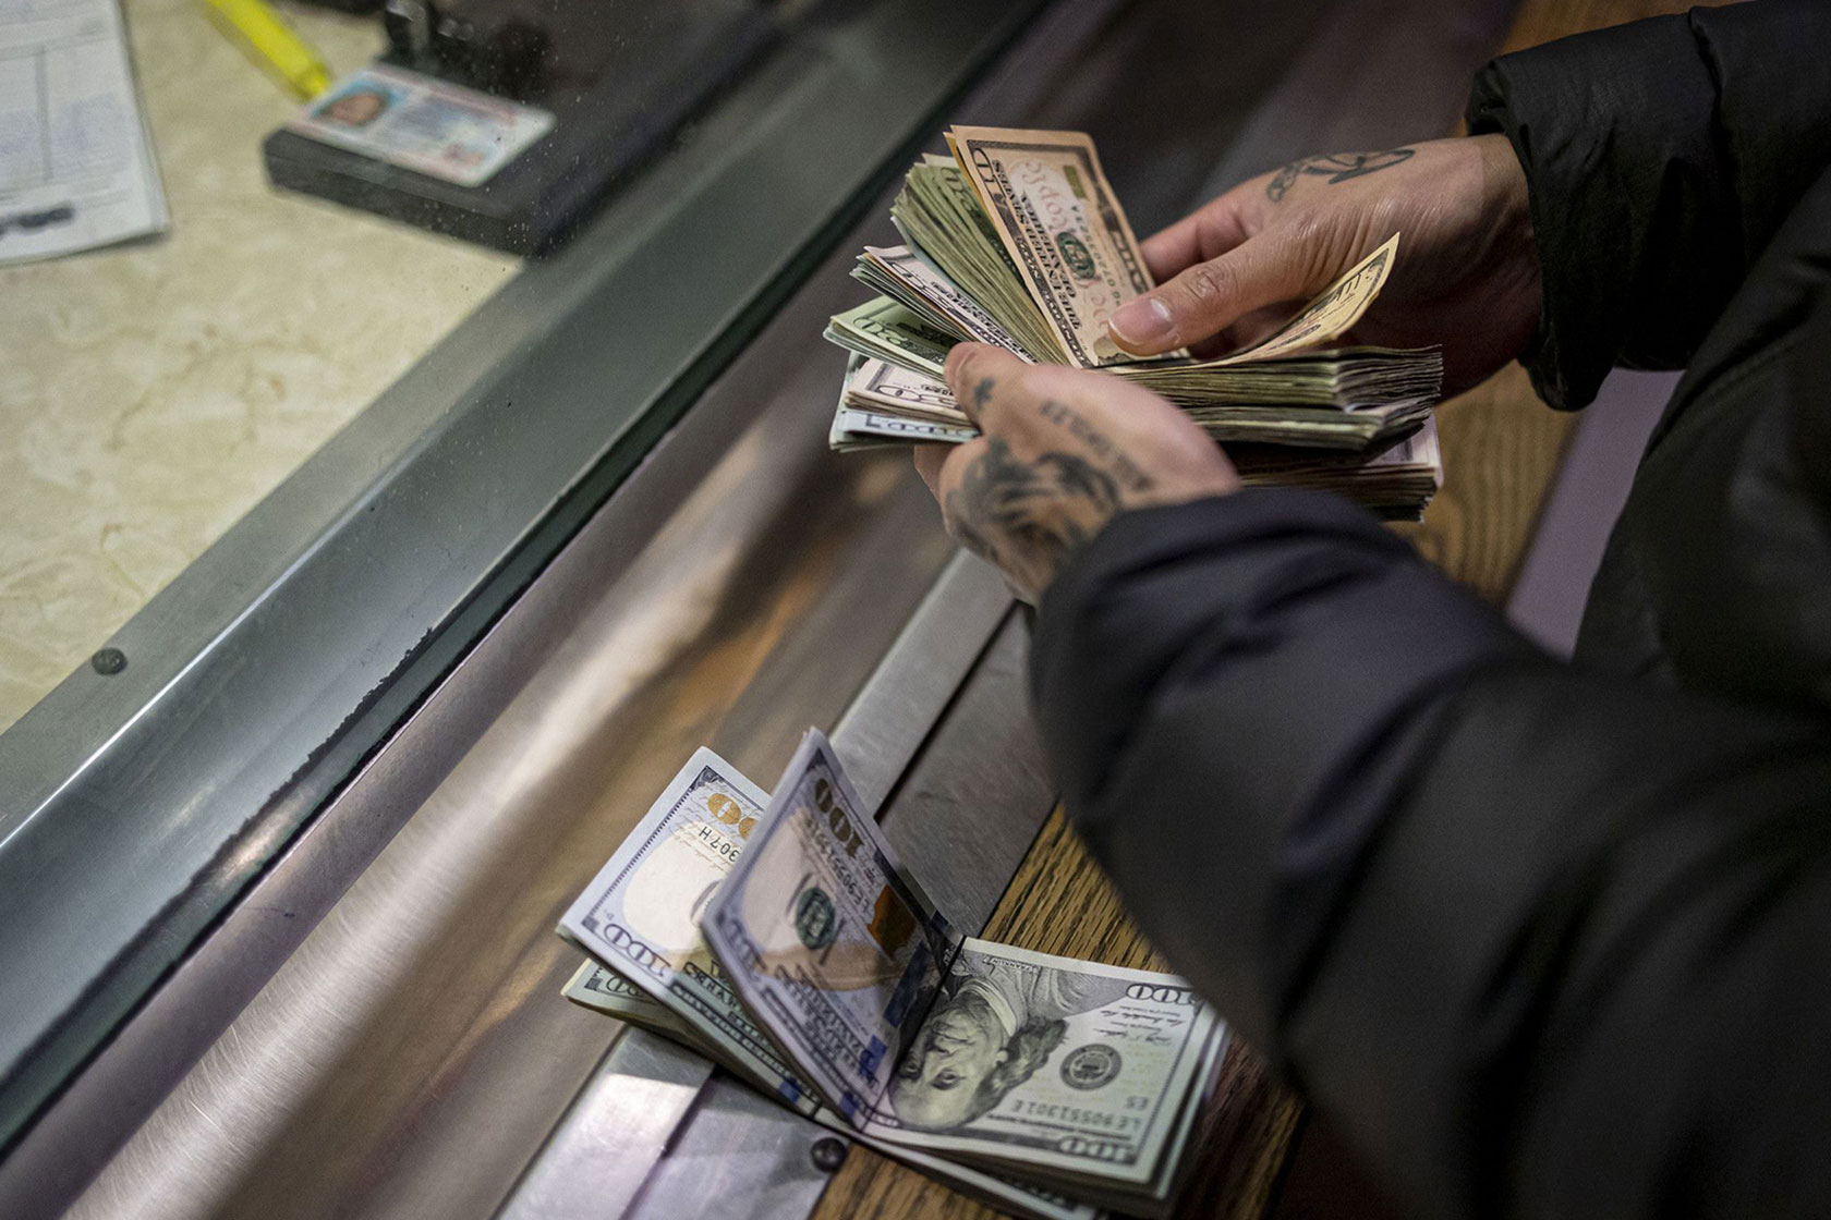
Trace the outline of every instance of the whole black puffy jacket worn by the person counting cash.
<instances>
[{"instance_id":1,"label":"whole black puffy jacket worn by the person counting cash","mask_svg":"<svg viewBox=\"0 0 1831 1220\"><path fill-rule=\"evenodd\" d=\"M1511 55L1540 393L1686 368L1562 664L1344 501L1117 518L1033 695L1128 907L1423 1216L1831 1216L1831 4Z\"/></svg>"}]
</instances>

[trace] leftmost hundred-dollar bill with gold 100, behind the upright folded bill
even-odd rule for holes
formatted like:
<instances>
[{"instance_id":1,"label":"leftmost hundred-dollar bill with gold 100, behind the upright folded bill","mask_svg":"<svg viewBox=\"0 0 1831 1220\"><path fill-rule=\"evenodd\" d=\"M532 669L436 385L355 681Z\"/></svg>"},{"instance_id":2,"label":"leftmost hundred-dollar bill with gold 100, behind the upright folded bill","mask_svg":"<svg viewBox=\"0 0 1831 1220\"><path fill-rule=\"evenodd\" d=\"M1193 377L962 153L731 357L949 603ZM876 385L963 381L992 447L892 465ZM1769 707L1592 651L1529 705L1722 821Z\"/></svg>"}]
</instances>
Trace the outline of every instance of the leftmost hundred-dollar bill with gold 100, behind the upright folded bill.
<instances>
[{"instance_id":1,"label":"leftmost hundred-dollar bill with gold 100, behind the upright folded bill","mask_svg":"<svg viewBox=\"0 0 1831 1220\"><path fill-rule=\"evenodd\" d=\"M690 1024L740 1076L798 1110L815 1099L745 1013L699 933L769 796L698 750L560 920L558 933Z\"/></svg>"}]
</instances>

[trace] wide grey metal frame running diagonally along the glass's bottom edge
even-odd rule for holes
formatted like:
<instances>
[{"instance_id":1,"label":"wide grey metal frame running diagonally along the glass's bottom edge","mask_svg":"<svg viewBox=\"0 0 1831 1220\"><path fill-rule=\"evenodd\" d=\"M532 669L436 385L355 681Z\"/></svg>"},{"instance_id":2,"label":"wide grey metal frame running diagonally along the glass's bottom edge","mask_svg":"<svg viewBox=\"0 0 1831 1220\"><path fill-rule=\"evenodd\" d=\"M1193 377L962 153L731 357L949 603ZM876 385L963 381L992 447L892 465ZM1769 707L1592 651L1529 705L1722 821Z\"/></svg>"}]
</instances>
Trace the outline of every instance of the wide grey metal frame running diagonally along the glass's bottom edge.
<instances>
[{"instance_id":1,"label":"wide grey metal frame running diagonally along the glass's bottom edge","mask_svg":"<svg viewBox=\"0 0 1831 1220\"><path fill-rule=\"evenodd\" d=\"M452 671L1035 7L811 15L688 146L135 615L108 642L125 669L81 669L0 735L0 1149Z\"/></svg>"}]
</instances>

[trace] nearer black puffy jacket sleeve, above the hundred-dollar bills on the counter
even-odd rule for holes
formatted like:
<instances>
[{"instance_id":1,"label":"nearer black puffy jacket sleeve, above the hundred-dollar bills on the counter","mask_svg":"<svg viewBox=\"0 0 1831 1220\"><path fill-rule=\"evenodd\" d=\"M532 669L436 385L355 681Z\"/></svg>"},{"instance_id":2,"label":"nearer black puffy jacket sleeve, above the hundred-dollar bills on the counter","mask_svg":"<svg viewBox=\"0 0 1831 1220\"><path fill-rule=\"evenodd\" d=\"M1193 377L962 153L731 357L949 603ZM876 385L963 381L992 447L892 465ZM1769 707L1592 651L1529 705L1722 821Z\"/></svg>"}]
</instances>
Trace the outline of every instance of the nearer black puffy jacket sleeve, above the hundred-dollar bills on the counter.
<instances>
[{"instance_id":1,"label":"nearer black puffy jacket sleeve, above the hundred-dollar bills on the counter","mask_svg":"<svg viewBox=\"0 0 1831 1220\"><path fill-rule=\"evenodd\" d=\"M1412 1215L1831 1215L1822 722L1556 664L1295 490L1117 518L1033 693L1146 935Z\"/></svg>"}]
</instances>

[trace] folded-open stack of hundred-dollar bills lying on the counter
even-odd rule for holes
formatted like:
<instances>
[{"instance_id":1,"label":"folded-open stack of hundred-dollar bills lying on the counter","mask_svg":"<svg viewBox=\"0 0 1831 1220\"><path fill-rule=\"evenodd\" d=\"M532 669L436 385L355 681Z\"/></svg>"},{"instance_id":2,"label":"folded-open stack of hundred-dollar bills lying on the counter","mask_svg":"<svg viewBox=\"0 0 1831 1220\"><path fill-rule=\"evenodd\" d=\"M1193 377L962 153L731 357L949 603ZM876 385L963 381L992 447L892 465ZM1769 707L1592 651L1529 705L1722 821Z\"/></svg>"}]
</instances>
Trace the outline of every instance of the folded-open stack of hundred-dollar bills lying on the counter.
<instances>
[{"instance_id":1,"label":"folded-open stack of hundred-dollar bills lying on the counter","mask_svg":"<svg viewBox=\"0 0 1831 1220\"><path fill-rule=\"evenodd\" d=\"M1227 1046L1174 975L963 935L818 732L775 796L694 754L558 931L568 999L1051 1220L1163 1215Z\"/></svg>"}]
</instances>

